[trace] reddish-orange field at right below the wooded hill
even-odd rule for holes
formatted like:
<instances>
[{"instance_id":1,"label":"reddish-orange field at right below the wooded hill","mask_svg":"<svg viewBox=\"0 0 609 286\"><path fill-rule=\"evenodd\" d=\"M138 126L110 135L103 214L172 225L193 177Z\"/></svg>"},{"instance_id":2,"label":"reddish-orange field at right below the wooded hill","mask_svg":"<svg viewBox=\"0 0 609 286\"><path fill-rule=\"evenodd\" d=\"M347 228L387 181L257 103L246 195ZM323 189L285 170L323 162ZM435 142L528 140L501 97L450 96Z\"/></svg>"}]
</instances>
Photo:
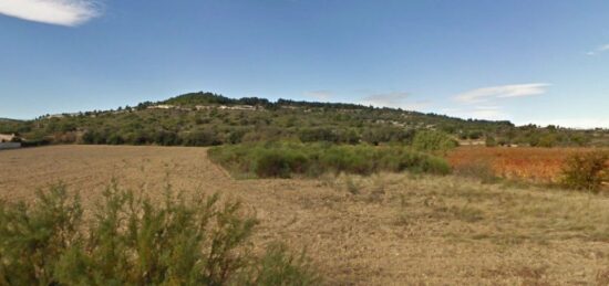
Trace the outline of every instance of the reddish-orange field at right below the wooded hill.
<instances>
[{"instance_id":1,"label":"reddish-orange field at right below the wooded hill","mask_svg":"<svg viewBox=\"0 0 609 286\"><path fill-rule=\"evenodd\" d=\"M593 148L461 147L447 156L451 166L488 165L496 176L536 182L556 182L565 159Z\"/></svg>"}]
</instances>

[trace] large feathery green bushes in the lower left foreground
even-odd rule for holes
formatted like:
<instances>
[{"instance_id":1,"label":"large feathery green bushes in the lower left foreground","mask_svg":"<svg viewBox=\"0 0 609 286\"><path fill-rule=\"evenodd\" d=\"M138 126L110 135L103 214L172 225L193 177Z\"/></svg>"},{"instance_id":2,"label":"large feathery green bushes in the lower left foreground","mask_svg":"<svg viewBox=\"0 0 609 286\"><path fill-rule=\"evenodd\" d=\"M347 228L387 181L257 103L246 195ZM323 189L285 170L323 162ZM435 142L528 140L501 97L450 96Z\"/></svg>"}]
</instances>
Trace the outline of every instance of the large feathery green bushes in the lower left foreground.
<instances>
[{"instance_id":1,"label":"large feathery green bushes in the lower left foreground","mask_svg":"<svg viewBox=\"0 0 609 286\"><path fill-rule=\"evenodd\" d=\"M31 205L0 203L0 285L311 285L303 255L272 244L257 257L256 221L218 195L164 203L112 186L83 220L64 186Z\"/></svg>"}]
</instances>

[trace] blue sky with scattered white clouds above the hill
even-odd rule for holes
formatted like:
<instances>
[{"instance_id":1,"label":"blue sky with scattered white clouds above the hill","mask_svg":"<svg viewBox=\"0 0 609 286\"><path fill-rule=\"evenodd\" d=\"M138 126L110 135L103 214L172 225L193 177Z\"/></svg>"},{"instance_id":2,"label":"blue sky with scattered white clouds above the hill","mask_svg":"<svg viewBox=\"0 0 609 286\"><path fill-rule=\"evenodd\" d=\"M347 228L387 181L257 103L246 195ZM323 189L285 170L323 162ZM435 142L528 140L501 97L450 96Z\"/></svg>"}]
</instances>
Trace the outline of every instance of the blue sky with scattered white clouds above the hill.
<instances>
[{"instance_id":1,"label":"blue sky with scattered white clouds above the hill","mask_svg":"<svg viewBox=\"0 0 609 286\"><path fill-rule=\"evenodd\" d=\"M0 117L198 91L609 128L609 1L0 0Z\"/></svg>"}]
</instances>

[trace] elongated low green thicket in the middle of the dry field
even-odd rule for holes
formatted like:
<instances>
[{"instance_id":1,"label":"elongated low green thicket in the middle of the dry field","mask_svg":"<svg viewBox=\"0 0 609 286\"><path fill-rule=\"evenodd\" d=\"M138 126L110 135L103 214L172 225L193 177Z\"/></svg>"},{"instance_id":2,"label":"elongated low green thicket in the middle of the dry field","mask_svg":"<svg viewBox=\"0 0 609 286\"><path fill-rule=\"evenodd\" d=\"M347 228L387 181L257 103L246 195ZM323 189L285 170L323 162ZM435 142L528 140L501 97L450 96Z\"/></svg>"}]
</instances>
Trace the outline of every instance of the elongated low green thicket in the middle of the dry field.
<instances>
[{"instance_id":1,"label":"elongated low green thicket in the middle of the dry field","mask_svg":"<svg viewBox=\"0 0 609 286\"><path fill-rule=\"evenodd\" d=\"M218 146L208 153L214 162L236 174L258 178L316 177L324 172L451 172L444 159L402 146L267 142Z\"/></svg>"}]
</instances>

